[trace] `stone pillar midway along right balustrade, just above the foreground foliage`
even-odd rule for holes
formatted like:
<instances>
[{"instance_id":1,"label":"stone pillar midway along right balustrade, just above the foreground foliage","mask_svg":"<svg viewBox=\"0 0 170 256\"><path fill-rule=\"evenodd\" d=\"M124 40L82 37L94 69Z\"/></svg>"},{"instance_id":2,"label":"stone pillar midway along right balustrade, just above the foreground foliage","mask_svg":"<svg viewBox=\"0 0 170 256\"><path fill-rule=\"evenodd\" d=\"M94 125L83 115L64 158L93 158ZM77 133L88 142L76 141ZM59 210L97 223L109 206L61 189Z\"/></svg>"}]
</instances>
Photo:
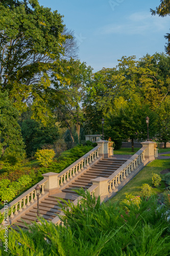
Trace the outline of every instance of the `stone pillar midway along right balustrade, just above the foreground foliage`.
<instances>
[{"instance_id":1,"label":"stone pillar midway along right balustrade, just above the foreground foliage","mask_svg":"<svg viewBox=\"0 0 170 256\"><path fill-rule=\"evenodd\" d=\"M99 177L99 178L95 178L90 180L93 185L98 185L98 187L95 189L94 191L94 196L97 197L101 197L101 201L103 201L109 194L109 190L108 190L108 181L109 179L107 178L103 178L103 177Z\"/></svg>"}]
</instances>

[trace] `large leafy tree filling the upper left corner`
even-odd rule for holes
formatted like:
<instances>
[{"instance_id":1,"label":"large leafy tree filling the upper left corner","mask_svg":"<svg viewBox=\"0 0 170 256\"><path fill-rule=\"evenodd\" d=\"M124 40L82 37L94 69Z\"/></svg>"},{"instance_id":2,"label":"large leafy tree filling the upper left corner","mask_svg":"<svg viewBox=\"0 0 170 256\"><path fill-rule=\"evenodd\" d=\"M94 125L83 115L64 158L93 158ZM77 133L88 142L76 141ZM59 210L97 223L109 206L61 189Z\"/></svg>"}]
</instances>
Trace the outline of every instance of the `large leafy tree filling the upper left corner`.
<instances>
[{"instance_id":1,"label":"large leafy tree filling the upper left corner","mask_svg":"<svg viewBox=\"0 0 170 256\"><path fill-rule=\"evenodd\" d=\"M34 117L42 120L51 113L47 89L64 54L63 29L62 16L38 0L0 3L0 89L9 91L20 111L30 102Z\"/></svg>"}]
</instances>

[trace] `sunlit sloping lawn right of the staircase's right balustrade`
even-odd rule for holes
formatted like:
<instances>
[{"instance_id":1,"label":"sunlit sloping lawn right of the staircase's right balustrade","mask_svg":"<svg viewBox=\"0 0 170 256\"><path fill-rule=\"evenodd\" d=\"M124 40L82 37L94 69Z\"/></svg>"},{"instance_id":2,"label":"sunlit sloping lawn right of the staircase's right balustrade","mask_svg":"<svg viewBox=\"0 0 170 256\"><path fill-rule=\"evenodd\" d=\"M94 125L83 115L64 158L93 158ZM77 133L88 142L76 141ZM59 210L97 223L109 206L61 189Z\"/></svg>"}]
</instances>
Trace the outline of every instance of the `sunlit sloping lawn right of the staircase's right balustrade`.
<instances>
[{"instance_id":1,"label":"sunlit sloping lawn right of the staircase's right balustrade","mask_svg":"<svg viewBox=\"0 0 170 256\"><path fill-rule=\"evenodd\" d=\"M152 184L152 173L160 174L160 172L164 169L170 168L170 160L169 159L161 159L154 160L145 166L125 187L120 190L116 196L110 199L111 203L115 203L118 201L122 201L126 197L126 193L132 194L134 196L141 196L141 186L144 183L152 186L152 194L158 195L163 192L163 188L165 188L165 184L161 181L161 185L159 187L153 187ZM162 177L162 175L160 174Z\"/></svg>"}]
</instances>

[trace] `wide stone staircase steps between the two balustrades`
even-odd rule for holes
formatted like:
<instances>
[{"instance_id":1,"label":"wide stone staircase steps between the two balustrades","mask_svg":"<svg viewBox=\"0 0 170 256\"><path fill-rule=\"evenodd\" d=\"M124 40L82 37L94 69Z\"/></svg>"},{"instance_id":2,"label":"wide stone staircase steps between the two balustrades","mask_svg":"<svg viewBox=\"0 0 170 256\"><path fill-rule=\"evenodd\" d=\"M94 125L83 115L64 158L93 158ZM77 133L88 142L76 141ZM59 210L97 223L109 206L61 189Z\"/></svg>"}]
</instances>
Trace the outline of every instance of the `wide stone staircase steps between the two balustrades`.
<instances>
[{"instance_id":1,"label":"wide stone staircase steps between the two balustrades","mask_svg":"<svg viewBox=\"0 0 170 256\"><path fill-rule=\"evenodd\" d=\"M64 199L66 200L66 202L68 202L68 200L70 202L73 202L79 196L72 189L79 189L81 187L84 188L84 190L88 189L92 185L92 182L90 180L98 177L108 178L126 161L127 159L112 158L99 160L97 163L88 168L84 173L82 173L79 177L77 177L74 181L70 182L64 189L60 190L59 193L54 195L48 195L43 198L43 200L41 200L39 203L40 216L47 221L52 221L61 212L60 206L58 205L56 198ZM64 204L61 199L58 199L58 201L61 204ZM36 216L37 205L34 205L29 211L26 212L25 215L22 215L21 218L19 218L11 227L16 228L16 226L19 226L21 228L26 228L25 223L31 224L37 219Z\"/></svg>"}]
</instances>

